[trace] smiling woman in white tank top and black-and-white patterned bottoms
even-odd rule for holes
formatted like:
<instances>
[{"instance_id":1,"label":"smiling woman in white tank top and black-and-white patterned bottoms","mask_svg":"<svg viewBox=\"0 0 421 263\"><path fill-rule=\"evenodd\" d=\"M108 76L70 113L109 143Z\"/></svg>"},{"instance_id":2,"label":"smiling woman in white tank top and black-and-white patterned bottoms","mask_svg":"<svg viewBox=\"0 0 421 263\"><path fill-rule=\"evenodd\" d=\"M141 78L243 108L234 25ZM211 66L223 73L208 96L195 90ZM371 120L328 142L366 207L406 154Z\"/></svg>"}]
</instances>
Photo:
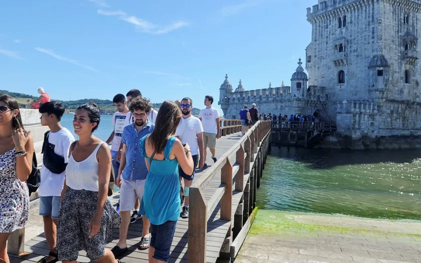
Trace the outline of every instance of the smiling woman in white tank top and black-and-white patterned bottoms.
<instances>
[{"instance_id":1,"label":"smiling woman in white tank top and black-and-white patterned bottoms","mask_svg":"<svg viewBox=\"0 0 421 263\"><path fill-rule=\"evenodd\" d=\"M119 262L105 248L121 218L107 199L111 170L108 145L92 134L99 121L95 104L76 110L73 127L79 141L70 147L57 226L58 259L62 261L76 262L79 250L85 250L93 261Z\"/></svg>"}]
</instances>

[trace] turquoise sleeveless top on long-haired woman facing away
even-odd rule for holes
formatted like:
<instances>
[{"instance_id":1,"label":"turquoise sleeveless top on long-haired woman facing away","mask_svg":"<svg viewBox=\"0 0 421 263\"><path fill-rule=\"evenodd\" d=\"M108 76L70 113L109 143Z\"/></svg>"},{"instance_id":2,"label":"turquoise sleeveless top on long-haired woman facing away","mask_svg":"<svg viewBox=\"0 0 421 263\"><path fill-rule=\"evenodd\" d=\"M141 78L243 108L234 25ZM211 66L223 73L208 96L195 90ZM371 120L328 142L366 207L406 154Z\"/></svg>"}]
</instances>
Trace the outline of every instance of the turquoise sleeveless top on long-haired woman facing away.
<instances>
[{"instance_id":1,"label":"turquoise sleeveless top on long-haired woman facing away","mask_svg":"<svg viewBox=\"0 0 421 263\"><path fill-rule=\"evenodd\" d=\"M140 139L139 149L146 155L145 140ZM180 181L178 180L178 161L169 159L175 137L169 138L164 148L163 160L152 160L146 176L143 198L140 202L140 214L146 215L151 224L159 225L166 221L176 221L180 216Z\"/></svg>"}]
</instances>

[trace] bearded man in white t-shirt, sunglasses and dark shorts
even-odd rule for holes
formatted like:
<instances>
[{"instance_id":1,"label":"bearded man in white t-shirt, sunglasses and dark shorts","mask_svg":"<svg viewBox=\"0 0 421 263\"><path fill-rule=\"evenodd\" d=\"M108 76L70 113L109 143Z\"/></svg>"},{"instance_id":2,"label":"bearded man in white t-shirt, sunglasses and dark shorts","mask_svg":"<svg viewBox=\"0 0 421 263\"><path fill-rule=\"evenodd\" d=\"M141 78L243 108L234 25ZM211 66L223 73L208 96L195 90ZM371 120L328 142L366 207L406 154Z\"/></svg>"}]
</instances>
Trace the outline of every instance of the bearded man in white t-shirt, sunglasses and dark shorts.
<instances>
[{"instance_id":1,"label":"bearded man in white t-shirt, sunglasses and dark shorts","mask_svg":"<svg viewBox=\"0 0 421 263\"><path fill-rule=\"evenodd\" d=\"M186 174L178 167L180 180L184 179L184 206L181 212L182 218L188 217L188 187L191 186L194 179L194 169L197 166L198 154L199 168L203 168L203 127L200 120L191 115L193 109L192 101L190 98L181 100L181 112L183 114L180 125L175 131L175 136L181 141L182 144L187 143L190 146L191 156L193 157L193 174Z\"/></svg>"}]
</instances>

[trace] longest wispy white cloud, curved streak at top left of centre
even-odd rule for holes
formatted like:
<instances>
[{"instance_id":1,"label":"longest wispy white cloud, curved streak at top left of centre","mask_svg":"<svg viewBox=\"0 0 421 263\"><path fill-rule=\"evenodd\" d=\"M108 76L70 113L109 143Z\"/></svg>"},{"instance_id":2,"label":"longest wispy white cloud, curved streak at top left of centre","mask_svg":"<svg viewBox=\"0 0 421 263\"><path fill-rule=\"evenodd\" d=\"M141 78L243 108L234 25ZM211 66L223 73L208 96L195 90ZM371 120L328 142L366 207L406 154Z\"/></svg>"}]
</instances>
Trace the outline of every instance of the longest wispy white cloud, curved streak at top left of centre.
<instances>
[{"instance_id":1,"label":"longest wispy white cloud, curved streak at top left of centre","mask_svg":"<svg viewBox=\"0 0 421 263\"><path fill-rule=\"evenodd\" d=\"M104 10L97 10L97 13L102 16L115 16L118 17L119 20L125 21L131 25L134 25L138 32L142 33L149 33L154 35L166 34L171 31L189 26L190 24L185 21L177 21L171 25L161 27L159 25L153 24L149 21L144 19L129 16L123 11L104 11Z\"/></svg>"}]
</instances>

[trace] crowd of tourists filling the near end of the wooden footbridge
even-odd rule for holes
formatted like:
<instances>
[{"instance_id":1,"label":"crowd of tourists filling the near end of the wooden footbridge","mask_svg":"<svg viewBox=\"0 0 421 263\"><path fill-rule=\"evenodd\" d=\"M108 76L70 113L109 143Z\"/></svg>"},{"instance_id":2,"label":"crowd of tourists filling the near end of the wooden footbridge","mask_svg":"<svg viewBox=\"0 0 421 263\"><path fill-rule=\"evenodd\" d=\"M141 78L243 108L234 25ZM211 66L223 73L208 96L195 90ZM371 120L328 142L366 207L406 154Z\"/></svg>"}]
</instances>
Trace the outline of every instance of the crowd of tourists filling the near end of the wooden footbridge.
<instances>
[{"instance_id":1,"label":"crowd of tourists filling the near end of the wooden footbridge","mask_svg":"<svg viewBox=\"0 0 421 263\"><path fill-rule=\"evenodd\" d=\"M114 129L105 142L94 135L101 122L94 103L75 111L78 140L60 123L61 102L39 103L41 124L49 127L39 174L39 214L50 248L39 262L76 262L80 250L96 262L119 262L116 257L128 250L129 225L139 219L138 249L149 249L149 262L168 262L177 219L189 215L195 169L207 166L207 148L217 161L220 116L213 102L205 96L197 118L188 97L164 101L156 111L139 90L117 94ZM31 133L23 126L17 101L8 95L0 96L0 142L0 261L9 263L7 240L28 222L30 190L36 190L28 187L38 170ZM120 188L117 206L107 198L114 181ZM114 228L119 228L119 240L108 249Z\"/></svg>"}]
</instances>

